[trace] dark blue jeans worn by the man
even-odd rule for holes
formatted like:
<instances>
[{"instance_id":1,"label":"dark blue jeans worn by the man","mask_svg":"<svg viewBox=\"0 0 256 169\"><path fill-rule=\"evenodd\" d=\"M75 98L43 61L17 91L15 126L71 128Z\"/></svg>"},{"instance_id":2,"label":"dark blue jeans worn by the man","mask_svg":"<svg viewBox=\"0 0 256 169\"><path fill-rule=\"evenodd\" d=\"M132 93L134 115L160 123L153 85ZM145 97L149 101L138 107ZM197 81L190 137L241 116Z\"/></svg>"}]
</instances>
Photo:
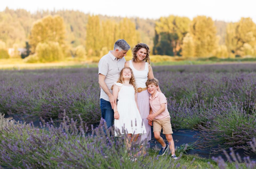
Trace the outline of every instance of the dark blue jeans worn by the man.
<instances>
[{"instance_id":1,"label":"dark blue jeans worn by the man","mask_svg":"<svg viewBox=\"0 0 256 169\"><path fill-rule=\"evenodd\" d=\"M114 120L114 110L111 107L109 101L100 99L101 101L101 117L105 119L107 123L107 128L110 128Z\"/></svg>"}]
</instances>

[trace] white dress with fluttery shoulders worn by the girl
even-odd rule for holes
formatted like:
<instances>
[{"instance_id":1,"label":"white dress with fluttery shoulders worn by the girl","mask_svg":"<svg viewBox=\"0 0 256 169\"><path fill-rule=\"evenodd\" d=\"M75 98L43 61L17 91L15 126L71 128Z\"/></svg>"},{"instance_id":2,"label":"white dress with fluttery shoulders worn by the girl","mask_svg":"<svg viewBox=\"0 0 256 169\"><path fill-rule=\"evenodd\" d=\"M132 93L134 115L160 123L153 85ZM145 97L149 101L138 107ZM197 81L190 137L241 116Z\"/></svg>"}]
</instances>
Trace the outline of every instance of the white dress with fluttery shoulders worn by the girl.
<instances>
[{"instance_id":1,"label":"white dress with fluttery shoulders worn by the girl","mask_svg":"<svg viewBox=\"0 0 256 169\"><path fill-rule=\"evenodd\" d=\"M145 126L142 122L139 110L135 102L135 91L133 86L125 86L122 83L115 85L121 86L118 92L117 111L119 119L115 119L115 137L121 137L126 134L144 134Z\"/></svg>"}]
</instances>

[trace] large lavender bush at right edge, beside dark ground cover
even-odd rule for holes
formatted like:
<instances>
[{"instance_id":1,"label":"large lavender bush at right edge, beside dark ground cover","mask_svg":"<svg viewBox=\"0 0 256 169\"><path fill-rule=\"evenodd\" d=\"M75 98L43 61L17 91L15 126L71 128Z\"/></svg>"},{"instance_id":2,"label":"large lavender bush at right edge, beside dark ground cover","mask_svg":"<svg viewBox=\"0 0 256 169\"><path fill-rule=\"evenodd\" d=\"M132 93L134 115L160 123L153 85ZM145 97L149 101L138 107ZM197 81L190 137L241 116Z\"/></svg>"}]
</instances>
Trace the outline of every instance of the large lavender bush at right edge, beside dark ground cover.
<instances>
[{"instance_id":1,"label":"large lavender bush at right edge, beside dark ground cover","mask_svg":"<svg viewBox=\"0 0 256 169\"><path fill-rule=\"evenodd\" d=\"M212 148L214 153L222 152L228 147L241 149L247 153L255 153L251 141L256 136L256 107L255 101L240 102L233 98L224 97L222 100L213 99L212 108L200 114L206 119L198 125L200 132L196 135L197 145L201 149Z\"/></svg>"}]
</instances>

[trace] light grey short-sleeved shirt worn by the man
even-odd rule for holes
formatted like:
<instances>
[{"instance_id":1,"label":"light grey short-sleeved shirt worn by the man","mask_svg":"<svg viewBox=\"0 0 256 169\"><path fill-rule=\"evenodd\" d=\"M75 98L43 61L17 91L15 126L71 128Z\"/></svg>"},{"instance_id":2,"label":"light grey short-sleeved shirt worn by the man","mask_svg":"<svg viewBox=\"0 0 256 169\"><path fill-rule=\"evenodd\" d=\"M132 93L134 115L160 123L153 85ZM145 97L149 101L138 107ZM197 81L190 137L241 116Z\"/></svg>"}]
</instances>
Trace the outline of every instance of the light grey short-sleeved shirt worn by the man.
<instances>
[{"instance_id":1,"label":"light grey short-sleeved shirt worn by the man","mask_svg":"<svg viewBox=\"0 0 256 169\"><path fill-rule=\"evenodd\" d=\"M125 62L125 57L117 60L111 51L99 60L99 74L106 76L105 83L111 93L111 86L118 80L119 72L125 67ZM107 96L102 88L100 98L109 101L109 96Z\"/></svg>"}]
</instances>

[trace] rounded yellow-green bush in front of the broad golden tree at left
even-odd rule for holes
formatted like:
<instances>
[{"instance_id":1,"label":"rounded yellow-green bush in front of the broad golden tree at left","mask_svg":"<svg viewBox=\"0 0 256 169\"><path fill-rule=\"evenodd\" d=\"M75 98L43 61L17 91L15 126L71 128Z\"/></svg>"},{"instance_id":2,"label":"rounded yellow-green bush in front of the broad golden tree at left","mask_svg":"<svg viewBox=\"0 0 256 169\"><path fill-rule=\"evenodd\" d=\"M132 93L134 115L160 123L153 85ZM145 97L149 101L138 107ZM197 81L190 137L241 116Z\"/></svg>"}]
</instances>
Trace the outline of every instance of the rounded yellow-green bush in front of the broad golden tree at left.
<instances>
[{"instance_id":1,"label":"rounded yellow-green bush in front of the broad golden tree at left","mask_svg":"<svg viewBox=\"0 0 256 169\"><path fill-rule=\"evenodd\" d=\"M52 62L63 59L63 53L58 42L39 43L35 49L39 62Z\"/></svg>"}]
</instances>

